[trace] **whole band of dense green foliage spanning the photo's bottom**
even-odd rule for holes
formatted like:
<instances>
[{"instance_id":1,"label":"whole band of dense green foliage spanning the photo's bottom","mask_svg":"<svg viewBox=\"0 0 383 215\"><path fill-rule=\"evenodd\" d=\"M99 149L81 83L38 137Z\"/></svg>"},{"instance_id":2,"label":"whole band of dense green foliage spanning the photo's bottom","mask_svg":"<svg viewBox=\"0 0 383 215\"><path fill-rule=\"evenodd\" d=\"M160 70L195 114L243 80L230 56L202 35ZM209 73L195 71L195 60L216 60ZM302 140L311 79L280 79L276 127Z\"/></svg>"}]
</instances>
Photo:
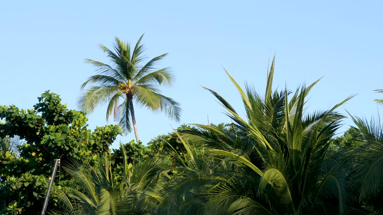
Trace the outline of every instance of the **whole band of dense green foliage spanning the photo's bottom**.
<instances>
[{"instance_id":1,"label":"whole band of dense green foliage spanning the photo's bottom","mask_svg":"<svg viewBox=\"0 0 383 215\"><path fill-rule=\"evenodd\" d=\"M306 111L319 81L264 93L242 89L245 117L218 92L226 111L218 125L181 125L142 142L110 144L116 125L87 129L83 112L68 110L49 91L32 110L0 106L0 213L38 214L52 162L62 161L51 214L379 214L383 207L383 129L379 120L337 108Z\"/></svg>"}]
</instances>

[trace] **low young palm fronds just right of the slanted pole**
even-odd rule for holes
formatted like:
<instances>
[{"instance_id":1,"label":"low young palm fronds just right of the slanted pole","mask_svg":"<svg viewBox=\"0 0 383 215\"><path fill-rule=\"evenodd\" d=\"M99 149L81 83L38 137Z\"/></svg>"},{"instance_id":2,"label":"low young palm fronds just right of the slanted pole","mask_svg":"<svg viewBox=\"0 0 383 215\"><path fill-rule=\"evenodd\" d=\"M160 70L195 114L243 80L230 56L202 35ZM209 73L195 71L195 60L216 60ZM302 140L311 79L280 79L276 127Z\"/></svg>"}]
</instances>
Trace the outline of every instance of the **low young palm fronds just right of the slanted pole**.
<instances>
[{"instance_id":1,"label":"low young palm fronds just right of the slanted pole","mask_svg":"<svg viewBox=\"0 0 383 215\"><path fill-rule=\"evenodd\" d=\"M167 172L171 162L163 156L140 159L136 164L128 163L125 146L123 150L122 180L116 180L110 161L105 155L104 162L98 159L97 166L73 162L65 165L72 179L81 185L81 190L67 187L59 192L61 211L51 211L53 215L127 215L152 212L148 197L143 191L161 191L166 187Z\"/></svg>"}]
</instances>

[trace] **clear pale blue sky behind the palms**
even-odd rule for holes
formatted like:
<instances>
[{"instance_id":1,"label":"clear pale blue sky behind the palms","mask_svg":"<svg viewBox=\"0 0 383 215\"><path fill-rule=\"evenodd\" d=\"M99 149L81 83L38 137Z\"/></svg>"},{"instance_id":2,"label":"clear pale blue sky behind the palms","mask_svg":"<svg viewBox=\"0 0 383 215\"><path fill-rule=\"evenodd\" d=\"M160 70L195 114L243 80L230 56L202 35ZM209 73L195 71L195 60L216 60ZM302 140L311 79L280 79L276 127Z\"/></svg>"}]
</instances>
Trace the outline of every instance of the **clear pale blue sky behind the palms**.
<instances>
[{"instance_id":1,"label":"clear pale blue sky behind the palms","mask_svg":"<svg viewBox=\"0 0 383 215\"><path fill-rule=\"evenodd\" d=\"M220 64L263 93L270 50L277 54L275 87L286 81L294 90L324 75L309 96L309 110L358 93L339 111L370 118L377 113L373 99L383 98L372 91L383 88L382 8L382 1L368 0L1 1L0 104L33 108L49 89L75 109L81 83L95 74L84 59L108 62L99 43L110 47L115 36L135 43L145 32L149 57L169 52L161 66L172 67L177 82L164 93L182 104L183 123L206 124L207 116L228 122L199 84L243 112ZM105 114L102 106L88 116L89 128L105 125ZM136 108L136 120L144 143L178 126L146 109Z\"/></svg>"}]
</instances>

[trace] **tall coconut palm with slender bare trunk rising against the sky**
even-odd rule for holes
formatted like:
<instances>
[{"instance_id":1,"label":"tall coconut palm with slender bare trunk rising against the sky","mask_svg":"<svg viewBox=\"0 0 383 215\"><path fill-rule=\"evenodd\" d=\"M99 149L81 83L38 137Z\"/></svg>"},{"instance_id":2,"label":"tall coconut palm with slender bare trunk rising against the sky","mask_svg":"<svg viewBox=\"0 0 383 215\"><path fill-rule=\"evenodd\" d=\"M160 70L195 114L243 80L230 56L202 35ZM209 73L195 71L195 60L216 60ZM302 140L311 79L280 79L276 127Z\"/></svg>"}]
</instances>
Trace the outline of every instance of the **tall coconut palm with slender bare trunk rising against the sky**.
<instances>
[{"instance_id":1,"label":"tall coconut palm with slender bare trunk rising against the sky","mask_svg":"<svg viewBox=\"0 0 383 215\"><path fill-rule=\"evenodd\" d=\"M124 134L131 132L132 122L137 142L139 136L133 100L139 106L151 111L165 112L176 122L180 121L181 116L180 104L161 94L159 89L160 86L170 86L175 81L169 67L161 69L155 67L167 53L154 57L144 64L147 57L144 55L144 46L140 44L143 36L144 34L133 49L129 43L118 37L113 44L114 50L100 44L99 47L107 54L111 64L86 59L87 63L96 67L95 71L98 74L92 75L82 84L81 90L88 84L93 85L83 91L77 100L78 107L87 113L93 112L101 104L108 103L106 121L114 112L114 120L121 124Z\"/></svg>"}]
</instances>

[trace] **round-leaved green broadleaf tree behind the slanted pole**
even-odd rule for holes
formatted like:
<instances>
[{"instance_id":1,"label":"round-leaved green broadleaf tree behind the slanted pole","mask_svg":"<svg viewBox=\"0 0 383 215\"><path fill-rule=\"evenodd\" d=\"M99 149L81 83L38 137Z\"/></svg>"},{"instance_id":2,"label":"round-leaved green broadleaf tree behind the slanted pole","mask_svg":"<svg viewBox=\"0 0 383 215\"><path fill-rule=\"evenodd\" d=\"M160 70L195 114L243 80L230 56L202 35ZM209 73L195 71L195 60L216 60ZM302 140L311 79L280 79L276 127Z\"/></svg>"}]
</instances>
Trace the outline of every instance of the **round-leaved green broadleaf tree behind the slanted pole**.
<instances>
[{"instance_id":1,"label":"round-leaved green broadleaf tree behind the slanted pole","mask_svg":"<svg viewBox=\"0 0 383 215\"><path fill-rule=\"evenodd\" d=\"M5 119L0 124L0 214L38 214L54 159L94 165L120 132L116 125L91 132L83 112L68 110L57 94L46 91L38 100L34 109L0 106L0 119ZM60 175L62 186L72 184L67 173ZM51 206L54 200L53 195Z\"/></svg>"}]
</instances>

